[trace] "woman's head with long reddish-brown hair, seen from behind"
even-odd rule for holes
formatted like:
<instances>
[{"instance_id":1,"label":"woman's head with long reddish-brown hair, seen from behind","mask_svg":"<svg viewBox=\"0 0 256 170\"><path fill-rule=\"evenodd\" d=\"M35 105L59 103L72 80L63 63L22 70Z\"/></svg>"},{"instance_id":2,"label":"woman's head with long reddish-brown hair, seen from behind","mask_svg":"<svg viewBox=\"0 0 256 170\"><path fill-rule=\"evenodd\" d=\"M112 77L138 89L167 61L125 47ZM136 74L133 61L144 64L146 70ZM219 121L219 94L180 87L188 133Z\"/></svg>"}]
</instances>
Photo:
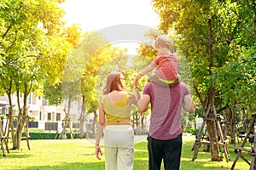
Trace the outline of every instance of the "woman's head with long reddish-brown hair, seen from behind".
<instances>
[{"instance_id":1,"label":"woman's head with long reddish-brown hair, seen from behind","mask_svg":"<svg viewBox=\"0 0 256 170\"><path fill-rule=\"evenodd\" d=\"M123 75L119 71L112 71L108 74L106 85L103 89L103 94L108 94L113 90L125 90L125 85L122 82Z\"/></svg>"}]
</instances>

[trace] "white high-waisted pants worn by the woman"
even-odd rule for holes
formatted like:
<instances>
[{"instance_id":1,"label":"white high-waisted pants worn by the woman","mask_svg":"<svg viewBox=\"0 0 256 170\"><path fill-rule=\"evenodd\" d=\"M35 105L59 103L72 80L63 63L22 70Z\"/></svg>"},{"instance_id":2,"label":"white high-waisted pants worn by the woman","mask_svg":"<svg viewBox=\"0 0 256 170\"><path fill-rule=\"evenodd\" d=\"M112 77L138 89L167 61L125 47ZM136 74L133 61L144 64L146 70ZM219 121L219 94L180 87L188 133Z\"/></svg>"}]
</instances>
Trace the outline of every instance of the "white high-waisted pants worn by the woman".
<instances>
[{"instance_id":1,"label":"white high-waisted pants worn by the woman","mask_svg":"<svg viewBox=\"0 0 256 170\"><path fill-rule=\"evenodd\" d=\"M132 170L134 156L132 127L108 125L104 139L106 170Z\"/></svg>"}]
</instances>

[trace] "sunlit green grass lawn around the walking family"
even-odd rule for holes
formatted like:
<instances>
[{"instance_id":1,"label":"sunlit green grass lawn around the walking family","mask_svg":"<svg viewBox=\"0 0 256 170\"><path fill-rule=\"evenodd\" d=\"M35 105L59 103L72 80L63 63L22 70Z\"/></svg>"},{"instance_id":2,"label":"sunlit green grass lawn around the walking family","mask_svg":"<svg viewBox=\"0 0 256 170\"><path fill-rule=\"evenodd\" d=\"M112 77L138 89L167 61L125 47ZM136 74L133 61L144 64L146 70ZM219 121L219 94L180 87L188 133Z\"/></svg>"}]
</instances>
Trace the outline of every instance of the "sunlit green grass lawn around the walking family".
<instances>
[{"instance_id":1,"label":"sunlit green grass lawn around the walking family","mask_svg":"<svg viewBox=\"0 0 256 170\"><path fill-rule=\"evenodd\" d=\"M21 141L21 150L10 150L10 153L5 157L3 157L2 150L0 150L0 169L102 170L104 169L104 156L102 157L102 161L96 159L94 141L94 139L30 140L31 150L28 150L26 140L24 140ZM225 160L211 161L210 153L203 152L202 147L195 161L191 161L194 154L194 151L191 151L194 141L195 136L183 135L183 152L180 169L230 169L236 157L233 151L233 145L230 145L230 162L226 162ZM11 147L11 144L9 144L9 147ZM250 155L246 156L250 161ZM134 169L148 169L147 141L141 141L135 144ZM249 165L239 158L239 161L236 162L235 169L249 169Z\"/></svg>"}]
</instances>

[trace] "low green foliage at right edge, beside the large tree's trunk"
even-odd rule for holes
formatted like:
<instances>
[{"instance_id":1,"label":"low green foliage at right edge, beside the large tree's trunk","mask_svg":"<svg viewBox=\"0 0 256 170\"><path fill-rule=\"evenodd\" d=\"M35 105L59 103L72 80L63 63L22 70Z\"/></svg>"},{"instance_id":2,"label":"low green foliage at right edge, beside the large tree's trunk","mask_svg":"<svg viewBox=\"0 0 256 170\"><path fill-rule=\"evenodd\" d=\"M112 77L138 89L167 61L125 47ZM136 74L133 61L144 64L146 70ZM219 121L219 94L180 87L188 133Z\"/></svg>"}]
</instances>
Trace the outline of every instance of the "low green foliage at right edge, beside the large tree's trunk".
<instances>
[{"instance_id":1,"label":"low green foliage at right edge, beside the large tree's trunk","mask_svg":"<svg viewBox=\"0 0 256 170\"><path fill-rule=\"evenodd\" d=\"M218 69L216 74L217 88L222 89L221 96L223 103L226 105L233 105L241 102L244 106L250 106L250 110L256 111L253 104L255 103L255 62L256 50L248 49L241 59L232 61ZM232 98L230 98L232 96Z\"/></svg>"}]
</instances>

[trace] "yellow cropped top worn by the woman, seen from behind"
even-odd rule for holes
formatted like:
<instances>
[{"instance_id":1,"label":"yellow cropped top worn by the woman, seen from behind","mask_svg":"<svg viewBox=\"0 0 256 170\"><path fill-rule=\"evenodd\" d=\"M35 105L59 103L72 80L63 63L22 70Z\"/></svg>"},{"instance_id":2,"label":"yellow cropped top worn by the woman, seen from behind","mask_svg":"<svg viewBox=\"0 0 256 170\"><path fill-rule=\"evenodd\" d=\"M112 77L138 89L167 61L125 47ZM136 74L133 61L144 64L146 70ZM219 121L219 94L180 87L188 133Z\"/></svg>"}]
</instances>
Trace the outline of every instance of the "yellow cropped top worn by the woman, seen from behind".
<instances>
[{"instance_id":1,"label":"yellow cropped top worn by the woman, seen from behind","mask_svg":"<svg viewBox=\"0 0 256 170\"><path fill-rule=\"evenodd\" d=\"M131 120L131 103L129 99L133 96L131 92L124 94L123 99L111 101L108 94L102 95L101 105L105 112L106 122L130 121Z\"/></svg>"}]
</instances>

